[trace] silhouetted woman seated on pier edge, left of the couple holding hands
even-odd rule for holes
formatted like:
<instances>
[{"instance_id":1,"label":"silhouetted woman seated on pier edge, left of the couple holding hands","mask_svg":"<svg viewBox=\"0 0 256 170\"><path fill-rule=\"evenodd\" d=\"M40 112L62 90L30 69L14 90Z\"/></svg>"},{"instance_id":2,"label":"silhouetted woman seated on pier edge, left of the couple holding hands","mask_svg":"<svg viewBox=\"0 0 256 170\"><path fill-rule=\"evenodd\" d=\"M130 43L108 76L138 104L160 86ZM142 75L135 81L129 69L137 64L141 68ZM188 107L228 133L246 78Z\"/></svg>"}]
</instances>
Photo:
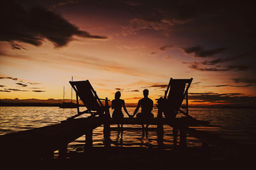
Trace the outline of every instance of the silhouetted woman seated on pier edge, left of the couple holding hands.
<instances>
[{"instance_id":1,"label":"silhouetted woman seated on pier edge, left of the couple holding hands","mask_svg":"<svg viewBox=\"0 0 256 170\"><path fill-rule=\"evenodd\" d=\"M129 117L131 116L125 107L124 100L120 99L120 97L121 97L120 91L116 91L115 99L112 100L112 102L111 102L111 109L114 109L114 111L112 113L112 118L114 118L115 120L124 118L124 114L122 112L122 107L124 107L124 111L127 113L127 115ZM122 127L123 127L123 125L122 125ZM118 128L120 128L119 124L118 124Z\"/></svg>"}]
</instances>

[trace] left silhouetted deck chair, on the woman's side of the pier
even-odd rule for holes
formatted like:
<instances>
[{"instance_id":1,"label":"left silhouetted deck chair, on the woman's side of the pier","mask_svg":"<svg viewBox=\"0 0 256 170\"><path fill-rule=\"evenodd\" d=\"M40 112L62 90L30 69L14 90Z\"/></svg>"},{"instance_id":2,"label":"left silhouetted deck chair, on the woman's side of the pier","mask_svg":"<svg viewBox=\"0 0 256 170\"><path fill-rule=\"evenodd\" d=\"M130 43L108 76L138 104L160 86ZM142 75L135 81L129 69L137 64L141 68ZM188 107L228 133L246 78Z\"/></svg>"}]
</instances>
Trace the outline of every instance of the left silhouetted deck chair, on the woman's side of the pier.
<instances>
[{"instance_id":1,"label":"left silhouetted deck chair, on the woman's side of the pier","mask_svg":"<svg viewBox=\"0 0 256 170\"><path fill-rule=\"evenodd\" d=\"M87 81L70 81L69 82L76 91L76 102L77 102L77 114L68 119L76 118L81 114L92 114L92 116L110 116L109 115L109 106L108 98L102 99L99 98L96 91L93 89L90 82ZM87 108L86 111L79 111L79 98L82 100L84 106ZM101 100L105 101L105 105L102 104Z\"/></svg>"}]
</instances>

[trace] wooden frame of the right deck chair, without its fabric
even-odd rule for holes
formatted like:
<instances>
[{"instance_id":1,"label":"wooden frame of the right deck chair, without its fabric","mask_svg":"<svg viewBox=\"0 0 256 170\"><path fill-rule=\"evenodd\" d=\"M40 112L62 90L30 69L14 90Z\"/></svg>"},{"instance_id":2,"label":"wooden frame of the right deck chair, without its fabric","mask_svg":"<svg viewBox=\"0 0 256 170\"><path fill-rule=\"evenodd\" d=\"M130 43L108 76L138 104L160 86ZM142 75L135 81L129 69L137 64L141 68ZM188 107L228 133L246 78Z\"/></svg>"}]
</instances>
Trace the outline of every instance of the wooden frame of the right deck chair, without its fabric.
<instances>
[{"instance_id":1,"label":"wooden frame of the right deck chair, without its fabric","mask_svg":"<svg viewBox=\"0 0 256 170\"><path fill-rule=\"evenodd\" d=\"M180 107L181 107L181 105L180 105L180 107L179 107L179 109L176 111L177 112L177 114L178 113L182 113L182 114L184 114L185 116L187 116L187 117L189 117L189 118L192 118L190 115L189 115L189 110L188 110L188 89L189 89L189 86L191 85L191 82L193 81L193 78L191 78L191 79L170 79L170 81L169 81L169 84L168 84L168 86L167 86L167 89L166 89L166 91L164 91L164 98L159 98L159 99L157 99L158 101L158 103L159 102L163 102L163 101L166 101L167 100L167 95L168 95L168 93L169 93L169 91L170 91L170 88L171 88L171 85L172 85L172 82L173 81L184 81L184 83L185 84L188 84L187 86L186 86L186 89L184 90L184 95L182 96L182 102L184 101L184 99L186 98L186 112L184 112L184 111L182 111L181 109L180 109ZM163 110L161 110L161 108L160 108L160 111L157 113L157 117L162 117L163 116Z\"/></svg>"}]
</instances>

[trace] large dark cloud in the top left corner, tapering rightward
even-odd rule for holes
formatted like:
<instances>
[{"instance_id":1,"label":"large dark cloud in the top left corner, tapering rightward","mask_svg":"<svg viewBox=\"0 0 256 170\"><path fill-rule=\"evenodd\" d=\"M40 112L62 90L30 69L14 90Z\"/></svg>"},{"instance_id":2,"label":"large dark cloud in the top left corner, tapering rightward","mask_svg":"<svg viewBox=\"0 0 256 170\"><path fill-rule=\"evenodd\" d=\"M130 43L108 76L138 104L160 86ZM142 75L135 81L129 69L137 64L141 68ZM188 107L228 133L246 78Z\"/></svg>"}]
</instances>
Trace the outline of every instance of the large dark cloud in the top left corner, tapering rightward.
<instances>
[{"instance_id":1,"label":"large dark cloud in the top left corner, tapering rightward","mask_svg":"<svg viewBox=\"0 0 256 170\"><path fill-rule=\"evenodd\" d=\"M1 1L0 6L0 19L3 23L0 27L0 41L10 42L14 49L21 47L13 41L38 46L47 39L55 47L62 47L72 41L74 35L106 39L106 36L81 31L60 15L38 6L25 9L14 1Z\"/></svg>"}]
</instances>

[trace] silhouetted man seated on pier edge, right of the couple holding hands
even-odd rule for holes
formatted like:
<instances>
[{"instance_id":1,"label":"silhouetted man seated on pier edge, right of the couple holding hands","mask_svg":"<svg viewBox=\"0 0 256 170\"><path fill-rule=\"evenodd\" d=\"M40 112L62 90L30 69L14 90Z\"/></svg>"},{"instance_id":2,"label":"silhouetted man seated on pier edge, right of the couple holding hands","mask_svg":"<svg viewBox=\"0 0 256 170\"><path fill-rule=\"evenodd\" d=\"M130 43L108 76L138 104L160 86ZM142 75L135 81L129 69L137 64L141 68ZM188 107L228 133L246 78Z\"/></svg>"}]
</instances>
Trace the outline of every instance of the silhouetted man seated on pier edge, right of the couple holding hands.
<instances>
[{"instance_id":1,"label":"silhouetted man seated on pier edge, right of the couple holding hands","mask_svg":"<svg viewBox=\"0 0 256 170\"><path fill-rule=\"evenodd\" d=\"M153 109L153 100L148 98L148 89L143 90L143 95L144 95L144 98L141 98L141 100L139 100L138 105L132 117L135 116L135 114L138 112L138 110L141 107L141 112L139 112L136 115L137 118L143 118L143 119L154 118L154 114L152 114L151 112ZM143 124L141 126L143 129L145 128ZM146 128L148 128L148 125L146 126Z\"/></svg>"}]
</instances>

